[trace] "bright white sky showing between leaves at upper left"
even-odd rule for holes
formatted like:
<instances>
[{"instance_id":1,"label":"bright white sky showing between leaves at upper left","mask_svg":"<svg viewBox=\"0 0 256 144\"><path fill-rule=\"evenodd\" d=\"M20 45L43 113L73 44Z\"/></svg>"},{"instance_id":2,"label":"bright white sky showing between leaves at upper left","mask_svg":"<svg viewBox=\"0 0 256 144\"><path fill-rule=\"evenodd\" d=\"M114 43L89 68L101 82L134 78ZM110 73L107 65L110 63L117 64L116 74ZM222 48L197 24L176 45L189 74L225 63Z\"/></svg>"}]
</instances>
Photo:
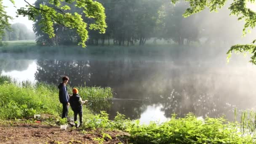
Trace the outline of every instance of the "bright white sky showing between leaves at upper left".
<instances>
[{"instance_id":1,"label":"bright white sky showing between leaves at upper left","mask_svg":"<svg viewBox=\"0 0 256 144\"><path fill-rule=\"evenodd\" d=\"M25 5L27 5L27 3L24 2L24 0L14 0L14 1L17 8L25 7ZM27 2L29 2L30 4L34 4L35 1L36 0L27 0ZM8 8L5 8L5 10L7 11L7 14L13 17L13 20L10 21L11 24L23 23L27 25L28 29L31 29L31 30L33 29L32 28L33 21L29 21L28 17L19 16L19 18L16 18L17 8L15 8L9 0L3 0L3 5L8 7Z\"/></svg>"}]
</instances>

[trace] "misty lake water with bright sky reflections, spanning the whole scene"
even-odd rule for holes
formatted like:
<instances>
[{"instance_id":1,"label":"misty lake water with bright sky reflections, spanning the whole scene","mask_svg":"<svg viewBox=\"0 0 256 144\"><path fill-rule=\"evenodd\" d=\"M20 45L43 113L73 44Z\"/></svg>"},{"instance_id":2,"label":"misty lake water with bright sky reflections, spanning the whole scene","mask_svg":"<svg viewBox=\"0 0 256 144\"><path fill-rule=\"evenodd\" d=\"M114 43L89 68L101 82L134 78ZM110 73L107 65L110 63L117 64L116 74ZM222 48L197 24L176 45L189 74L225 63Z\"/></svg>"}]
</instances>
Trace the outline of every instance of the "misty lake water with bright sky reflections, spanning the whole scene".
<instances>
[{"instance_id":1,"label":"misty lake water with bright sky reflections, spanning the whole scene","mask_svg":"<svg viewBox=\"0 0 256 144\"><path fill-rule=\"evenodd\" d=\"M120 112L141 123L168 120L171 114L233 120L234 109L254 109L256 66L236 56L227 64L225 53L202 57L132 56L22 56L1 54L0 73L18 81L113 88L117 99L105 110L113 118Z\"/></svg>"}]
</instances>

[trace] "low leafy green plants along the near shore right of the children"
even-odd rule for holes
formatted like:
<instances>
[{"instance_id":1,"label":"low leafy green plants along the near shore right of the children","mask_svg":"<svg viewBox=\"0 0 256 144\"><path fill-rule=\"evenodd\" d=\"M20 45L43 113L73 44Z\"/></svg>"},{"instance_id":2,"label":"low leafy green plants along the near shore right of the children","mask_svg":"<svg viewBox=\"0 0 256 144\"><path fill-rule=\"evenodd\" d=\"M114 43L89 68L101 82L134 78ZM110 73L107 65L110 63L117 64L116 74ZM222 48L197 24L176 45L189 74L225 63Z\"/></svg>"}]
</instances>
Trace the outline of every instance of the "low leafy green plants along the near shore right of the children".
<instances>
[{"instance_id":1,"label":"low leafy green plants along the near shore right of the children","mask_svg":"<svg viewBox=\"0 0 256 144\"><path fill-rule=\"evenodd\" d=\"M205 120L193 114L184 118L173 115L165 123L151 122L141 125L139 120L127 120L117 112L114 120L109 120L106 112L88 119L83 129L118 129L131 134L133 144L256 144L256 114L243 112L241 122L228 122L223 117Z\"/></svg>"}]
</instances>

